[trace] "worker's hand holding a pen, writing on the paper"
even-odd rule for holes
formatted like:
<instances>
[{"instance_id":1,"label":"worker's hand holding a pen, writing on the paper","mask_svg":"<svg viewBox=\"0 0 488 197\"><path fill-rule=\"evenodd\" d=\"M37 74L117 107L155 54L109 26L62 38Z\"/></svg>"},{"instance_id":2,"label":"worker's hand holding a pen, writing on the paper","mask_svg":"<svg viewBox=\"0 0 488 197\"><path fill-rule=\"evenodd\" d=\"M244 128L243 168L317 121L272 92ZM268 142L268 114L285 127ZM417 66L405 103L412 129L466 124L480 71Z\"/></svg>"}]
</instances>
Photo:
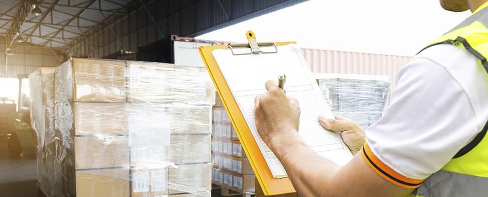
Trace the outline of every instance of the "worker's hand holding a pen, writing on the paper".
<instances>
[{"instance_id":1,"label":"worker's hand holding a pen, writing on the paper","mask_svg":"<svg viewBox=\"0 0 488 197\"><path fill-rule=\"evenodd\" d=\"M256 96L254 115L262 140L273 150L273 140L297 133L300 107L298 100L286 96L276 82L267 81L265 86L268 93Z\"/></svg>"}]
</instances>

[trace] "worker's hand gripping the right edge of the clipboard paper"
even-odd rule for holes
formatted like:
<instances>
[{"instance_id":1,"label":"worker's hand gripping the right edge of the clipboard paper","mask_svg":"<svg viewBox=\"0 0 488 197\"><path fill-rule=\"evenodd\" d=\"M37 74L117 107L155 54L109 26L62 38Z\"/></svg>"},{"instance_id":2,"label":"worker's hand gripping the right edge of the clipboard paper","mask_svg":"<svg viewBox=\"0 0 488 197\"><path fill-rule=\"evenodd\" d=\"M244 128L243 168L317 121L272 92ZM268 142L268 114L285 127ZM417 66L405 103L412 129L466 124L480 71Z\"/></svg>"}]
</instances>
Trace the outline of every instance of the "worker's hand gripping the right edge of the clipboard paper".
<instances>
[{"instance_id":1,"label":"worker's hand gripping the right edge of the clipboard paper","mask_svg":"<svg viewBox=\"0 0 488 197\"><path fill-rule=\"evenodd\" d=\"M335 120L319 117L319 123L325 129L340 132L344 143L346 143L353 155L356 155L364 145L364 131L356 122L349 118L337 114L334 114L334 117Z\"/></svg>"}]
</instances>

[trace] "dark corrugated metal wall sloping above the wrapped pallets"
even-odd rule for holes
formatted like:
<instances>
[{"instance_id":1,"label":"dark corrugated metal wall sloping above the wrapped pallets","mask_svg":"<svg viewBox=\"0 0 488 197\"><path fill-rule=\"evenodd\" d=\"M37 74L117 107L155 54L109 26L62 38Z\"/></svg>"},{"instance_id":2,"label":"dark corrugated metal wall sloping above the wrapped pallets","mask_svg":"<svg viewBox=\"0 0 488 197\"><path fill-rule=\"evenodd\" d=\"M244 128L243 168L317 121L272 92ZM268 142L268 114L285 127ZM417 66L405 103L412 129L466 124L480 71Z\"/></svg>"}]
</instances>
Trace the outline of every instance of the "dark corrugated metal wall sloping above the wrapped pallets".
<instances>
[{"instance_id":1,"label":"dark corrugated metal wall sloping above the wrapped pallets","mask_svg":"<svg viewBox=\"0 0 488 197\"><path fill-rule=\"evenodd\" d=\"M303 1L306 0L153 0L146 5L151 15L139 7L127 16L115 17L110 21L114 31L104 25L101 32L87 32L86 39L74 43L71 51L92 58L112 55L124 47L137 51L138 47L171 34L196 36Z\"/></svg>"}]
</instances>

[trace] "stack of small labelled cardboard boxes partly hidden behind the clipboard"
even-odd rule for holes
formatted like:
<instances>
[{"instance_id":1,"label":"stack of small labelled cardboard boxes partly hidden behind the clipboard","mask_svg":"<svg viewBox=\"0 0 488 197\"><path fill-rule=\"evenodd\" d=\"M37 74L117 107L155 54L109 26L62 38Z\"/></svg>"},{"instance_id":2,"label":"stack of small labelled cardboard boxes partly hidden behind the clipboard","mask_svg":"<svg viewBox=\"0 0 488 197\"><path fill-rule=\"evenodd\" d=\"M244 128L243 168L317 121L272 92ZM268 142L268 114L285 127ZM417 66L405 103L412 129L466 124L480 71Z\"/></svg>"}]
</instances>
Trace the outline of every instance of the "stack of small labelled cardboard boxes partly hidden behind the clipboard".
<instances>
[{"instance_id":1,"label":"stack of small labelled cardboard boxes partly hidden behind the clipboard","mask_svg":"<svg viewBox=\"0 0 488 197\"><path fill-rule=\"evenodd\" d=\"M254 171L219 96L212 122L212 182L240 193L254 192Z\"/></svg>"}]
</instances>

